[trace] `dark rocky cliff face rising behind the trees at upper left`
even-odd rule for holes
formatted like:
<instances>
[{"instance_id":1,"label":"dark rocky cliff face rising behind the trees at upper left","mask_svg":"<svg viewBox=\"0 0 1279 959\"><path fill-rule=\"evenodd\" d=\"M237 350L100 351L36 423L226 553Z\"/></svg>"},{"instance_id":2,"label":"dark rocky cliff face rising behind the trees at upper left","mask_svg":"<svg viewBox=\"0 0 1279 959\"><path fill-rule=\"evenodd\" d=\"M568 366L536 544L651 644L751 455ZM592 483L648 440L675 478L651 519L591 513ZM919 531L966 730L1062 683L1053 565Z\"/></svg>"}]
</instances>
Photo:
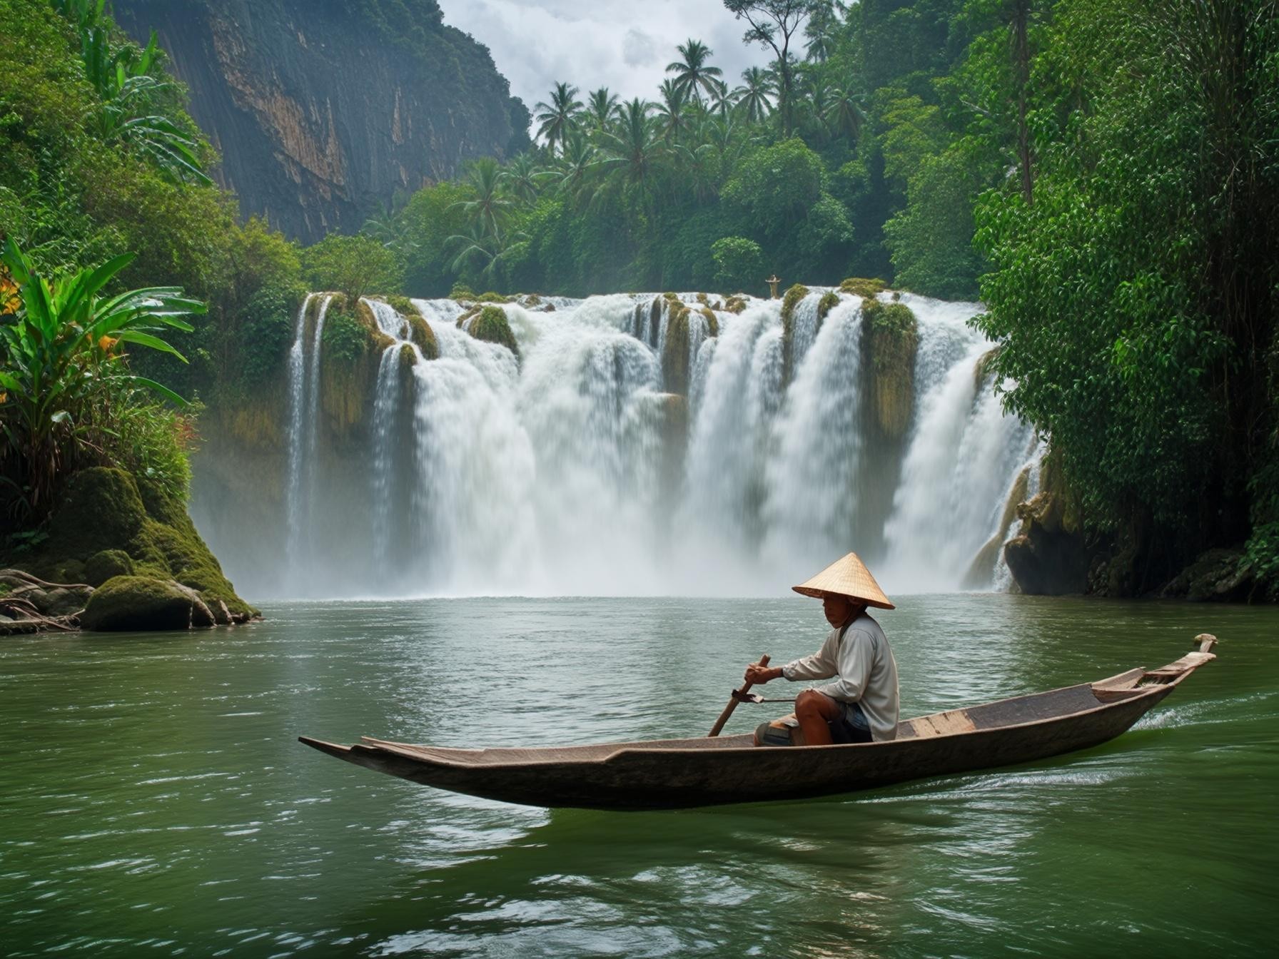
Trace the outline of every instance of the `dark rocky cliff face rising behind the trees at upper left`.
<instances>
[{"instance_id":1,"label":"dark rocky cliff face rising behind the trees at upper left","mask_svg":"<svg viewBox=\"0 0 1279 959\"><path fill-rule=\"evenodd\" d=\"M396 189L527 143L487 47L435 0L115 0L151 29L247 216L303 242L354 231Z\"/></svg>"}]
</instances>

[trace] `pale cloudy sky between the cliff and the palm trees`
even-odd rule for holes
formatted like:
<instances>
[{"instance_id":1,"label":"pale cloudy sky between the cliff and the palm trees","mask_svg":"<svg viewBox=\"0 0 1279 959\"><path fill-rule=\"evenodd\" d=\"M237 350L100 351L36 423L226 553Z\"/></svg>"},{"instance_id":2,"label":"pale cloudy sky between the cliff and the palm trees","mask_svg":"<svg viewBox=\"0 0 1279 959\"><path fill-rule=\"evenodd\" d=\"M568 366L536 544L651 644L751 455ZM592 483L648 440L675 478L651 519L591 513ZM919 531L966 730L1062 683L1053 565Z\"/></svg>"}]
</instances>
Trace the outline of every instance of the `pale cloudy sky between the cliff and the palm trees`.
<instances>
[{"instance_id":1,"label":"pale cloudy sky between the cliff and the palm trees","mask_svg":"<svg viewBox=\"0 0 1279 959\"><path fill-rule=\"evenodd\" d=\"M711 64L739 86L742 70L771 59L746 47L744 22L720 0L439 0L444 22L466 31L492 52L510 92L530 111L567 81L578 100L608 87L623 100L657 98L666 64L680 59L675 45L689 37L712 51ZM770 51L771 52L771 51Z\"/></svg>"}]
</instances>

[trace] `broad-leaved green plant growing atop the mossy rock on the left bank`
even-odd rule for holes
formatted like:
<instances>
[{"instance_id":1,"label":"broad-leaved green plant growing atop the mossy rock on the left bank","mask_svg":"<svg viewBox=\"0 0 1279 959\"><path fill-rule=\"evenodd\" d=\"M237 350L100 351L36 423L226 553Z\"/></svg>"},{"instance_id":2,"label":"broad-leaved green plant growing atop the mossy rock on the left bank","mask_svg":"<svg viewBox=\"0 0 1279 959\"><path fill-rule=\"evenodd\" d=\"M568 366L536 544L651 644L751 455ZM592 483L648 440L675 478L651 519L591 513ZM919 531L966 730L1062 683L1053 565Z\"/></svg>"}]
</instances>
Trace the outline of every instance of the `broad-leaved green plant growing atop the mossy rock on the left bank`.
<instances>
[{"instance_id":1,"label":"broad-leaved green plant growing atop the mossy rock on the left bank","mask_svg":"<svg viewBox=\"0 0 1279 959\"><path fill-rule=\"evenodd\" d=\"M83 419L105 390L138 386L185 405L168 386L130 372L125 350L136 344L187 362L157 334L189 332L182 317L206 307L177 286L101 295L133 256L49 280L12 237L0 253L18 295L17 311L0 315L0 462L36 517L81 453Z\"/></svg>"}]
</instances>

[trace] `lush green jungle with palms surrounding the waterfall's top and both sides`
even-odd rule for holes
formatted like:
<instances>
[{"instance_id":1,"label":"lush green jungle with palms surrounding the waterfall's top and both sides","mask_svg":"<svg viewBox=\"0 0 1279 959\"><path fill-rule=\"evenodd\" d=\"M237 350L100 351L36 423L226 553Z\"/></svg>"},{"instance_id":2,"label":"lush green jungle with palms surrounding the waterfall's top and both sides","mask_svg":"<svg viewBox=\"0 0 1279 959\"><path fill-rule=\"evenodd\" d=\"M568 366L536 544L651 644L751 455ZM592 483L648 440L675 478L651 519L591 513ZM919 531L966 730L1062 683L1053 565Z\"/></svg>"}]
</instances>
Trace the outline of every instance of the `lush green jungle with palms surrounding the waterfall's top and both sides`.
<instances>
[{"instance_id":1,"label":"lush green jungle with palms surrounding the waterfall's top and both sides","mask_svg":"<svg viewBox=\"0 0 1279 959\"><path fill-rule=\"evenodd\" d=\"M1126 591L1209 546L1273 588L1276 0L725 6L767 66L725 77L689 38L648 98L564 78L526 152L299 251L207 183L162 51L97 0L0 0L0 234L41 275L132 252L106 295L207 302L168 336L189 363L127 362L211 404L281 368L306 286L762 294L776 272L981 299L1091 547L1136 557Z\"/></svg>"}]
</instances>

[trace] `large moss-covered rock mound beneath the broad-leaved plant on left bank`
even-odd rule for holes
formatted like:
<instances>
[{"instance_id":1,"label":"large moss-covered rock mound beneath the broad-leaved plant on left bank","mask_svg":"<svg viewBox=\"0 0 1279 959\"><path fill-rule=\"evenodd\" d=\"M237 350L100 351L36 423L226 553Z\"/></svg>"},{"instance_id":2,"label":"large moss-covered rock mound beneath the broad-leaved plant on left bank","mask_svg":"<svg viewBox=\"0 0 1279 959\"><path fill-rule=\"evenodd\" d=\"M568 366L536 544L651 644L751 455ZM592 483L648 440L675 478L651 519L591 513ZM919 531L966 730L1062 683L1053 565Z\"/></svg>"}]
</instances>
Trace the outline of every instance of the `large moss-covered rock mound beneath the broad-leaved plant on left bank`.
<instances>
[{"instance_id":1,"label":"large moss-covered rock mound beneath the broad-leaved plant on left bank","mask_svg":"<svg viewBox=\"0 0 1279 959\"><path fill-rule=\"evenodd\" d=\"M101 554L120 552L137 575L174 579L198 591L220 619L244 621L257 615L223 575L185 505L151 487L139 487L123 469L92 467L73 473L47 529L49 538L38 552L29 559L12 557L12 565L56 578L73 563L82 564L87 573L91 563L106 563Z\"/></svg>"}]
</instances>

